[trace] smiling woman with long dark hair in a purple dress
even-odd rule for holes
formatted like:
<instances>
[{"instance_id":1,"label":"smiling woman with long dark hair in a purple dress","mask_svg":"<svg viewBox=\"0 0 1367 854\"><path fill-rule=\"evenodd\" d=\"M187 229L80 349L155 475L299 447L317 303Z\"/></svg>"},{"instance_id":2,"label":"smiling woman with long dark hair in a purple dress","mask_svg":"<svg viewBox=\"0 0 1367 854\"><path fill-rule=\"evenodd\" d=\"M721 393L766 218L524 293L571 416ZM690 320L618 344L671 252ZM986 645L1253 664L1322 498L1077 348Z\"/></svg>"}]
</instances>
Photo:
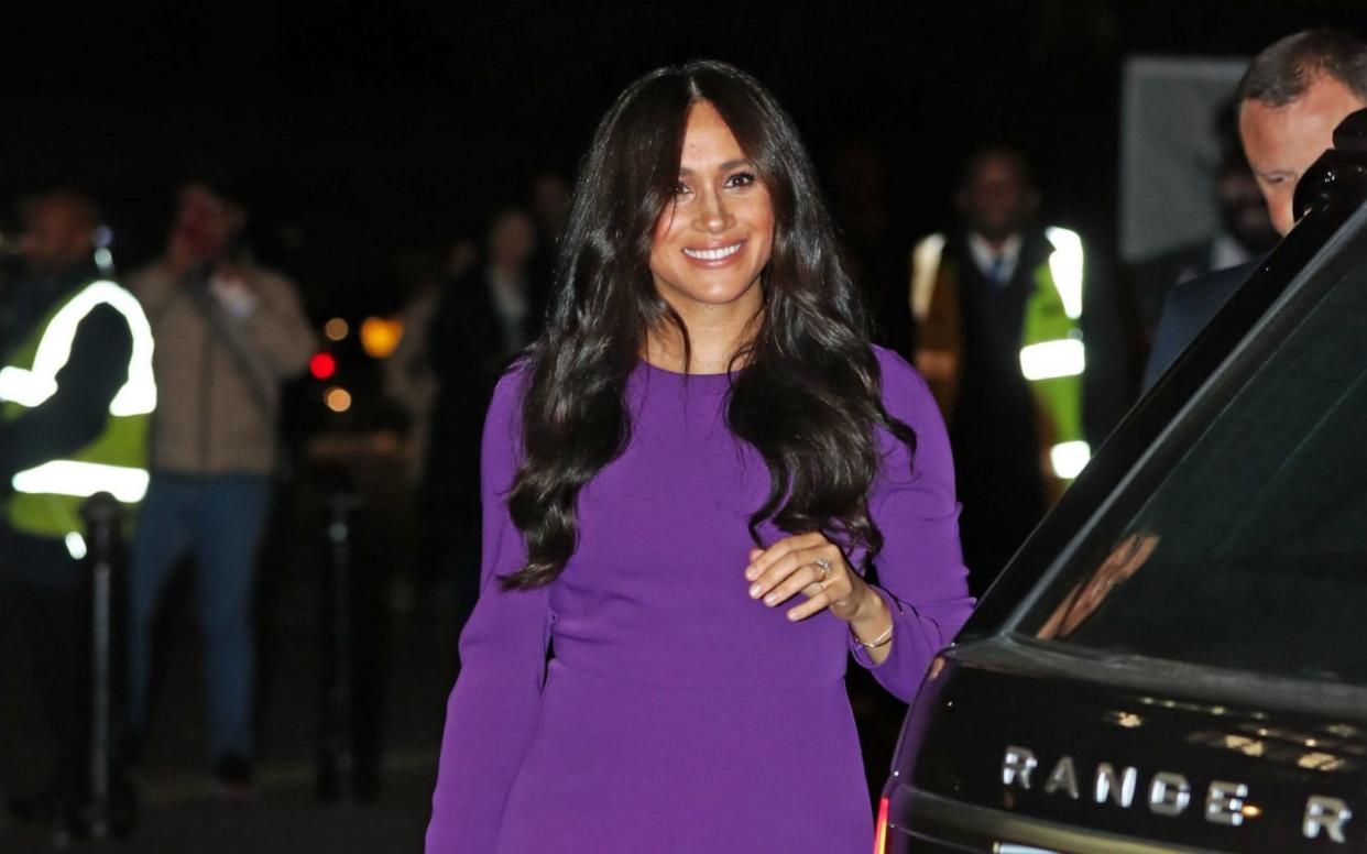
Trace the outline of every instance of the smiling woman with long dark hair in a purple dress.
<instances>
[{"instance_id":1,"label":"smiling woman with long dark hair in a purple dress","mask_svg":"<svg viewBox=\"0 0 1367 854\"><path fill-rule=\"evenodd\" d=\"M846 663L906 698L972 603L945 426L782 108L720 63L633 83L556 291L485 422L428 850L863 854Z\"/></svg>"}]
</instances>

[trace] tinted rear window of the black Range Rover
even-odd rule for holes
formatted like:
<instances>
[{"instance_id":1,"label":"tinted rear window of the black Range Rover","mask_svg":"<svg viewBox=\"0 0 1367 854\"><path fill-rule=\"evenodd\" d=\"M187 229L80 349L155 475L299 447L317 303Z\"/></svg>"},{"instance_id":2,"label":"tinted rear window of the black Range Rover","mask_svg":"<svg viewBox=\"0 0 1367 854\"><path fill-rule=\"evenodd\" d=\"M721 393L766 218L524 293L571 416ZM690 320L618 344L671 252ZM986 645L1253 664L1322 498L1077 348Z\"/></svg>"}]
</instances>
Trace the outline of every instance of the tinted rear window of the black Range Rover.
<instances>
[{"instance_id":1,"label":"tinted rear window of the black Range Rover","mask_svg":"<svg viewBox=\"0 0 1367 854\"><path fill-rule=\"evenodd\" d=\"M1018 623L1079 650L1367 685L1367 265L1286 329Z\"/></svg>"}]
</instances>

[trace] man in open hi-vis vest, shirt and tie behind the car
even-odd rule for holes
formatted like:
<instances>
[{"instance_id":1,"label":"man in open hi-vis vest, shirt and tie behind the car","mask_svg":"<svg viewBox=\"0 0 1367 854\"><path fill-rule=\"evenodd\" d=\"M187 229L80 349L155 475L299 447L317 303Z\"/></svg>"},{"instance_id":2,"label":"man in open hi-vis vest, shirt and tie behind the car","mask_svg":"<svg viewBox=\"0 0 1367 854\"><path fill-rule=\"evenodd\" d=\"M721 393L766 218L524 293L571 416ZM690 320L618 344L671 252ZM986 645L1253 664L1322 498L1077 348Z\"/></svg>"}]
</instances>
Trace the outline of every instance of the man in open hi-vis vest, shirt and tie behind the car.
<instances>
[{"instance_id":1,"label":"man in open hi-vis vest, shirt and tie behind the car","mask_svg":"<svg viewBox=\"0 0 1367 854\"><path fill-rule=\"evenodd\" d=\"M1036 224L1025 159L987 148L956 194L962 225L912 250L915 363L950 426L961 530L980 594L1128 403L1106 265Z\"/></svg>"}]
</instances>

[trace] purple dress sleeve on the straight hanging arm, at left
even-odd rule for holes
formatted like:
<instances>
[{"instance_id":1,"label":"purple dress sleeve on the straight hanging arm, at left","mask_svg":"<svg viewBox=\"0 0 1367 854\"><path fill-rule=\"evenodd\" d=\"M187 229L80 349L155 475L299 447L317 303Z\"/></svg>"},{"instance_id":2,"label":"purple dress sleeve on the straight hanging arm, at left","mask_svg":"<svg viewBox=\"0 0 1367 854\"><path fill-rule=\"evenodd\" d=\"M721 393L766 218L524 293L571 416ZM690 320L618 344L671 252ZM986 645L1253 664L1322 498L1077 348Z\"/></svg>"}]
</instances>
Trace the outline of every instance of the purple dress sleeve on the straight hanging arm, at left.
<instances>
[{"instance_id":1,"label":"purple dress sleeve on the straight hanging arm, at left","mask_svg":"<svg viewBox=\"0 0 1367 854\"><path fill-rule=\"evenodd\" d=\"M541 709L548 589L503 590L498 579L525 557L504 506L517 467L518 385L519 372L506 374L485 418L481 593L461 634L461 674L447 702L427 834L429 854L493 851L504 799Z\"/></svg>"}]
</instances>

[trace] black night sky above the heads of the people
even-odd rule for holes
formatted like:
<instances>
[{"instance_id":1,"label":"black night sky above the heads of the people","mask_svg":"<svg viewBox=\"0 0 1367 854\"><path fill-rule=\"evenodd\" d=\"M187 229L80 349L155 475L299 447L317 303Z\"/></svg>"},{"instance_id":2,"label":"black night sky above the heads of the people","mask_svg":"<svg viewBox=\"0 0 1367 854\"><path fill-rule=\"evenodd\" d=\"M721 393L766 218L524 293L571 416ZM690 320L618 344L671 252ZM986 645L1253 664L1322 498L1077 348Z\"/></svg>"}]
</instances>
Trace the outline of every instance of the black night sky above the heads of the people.
<instances>
[{"instance_id":1,"label":"black night sky above the heads of the people","mask_svg":"<svg viewBox=\"0 0 1367 854\"><path fill-rule=\"evenodd\" d=\"M8 12L7 12L8 15ZM543 168L573 174L611 98L694 56L772 86L831 180L853 141L887 164L886 249L943 225L966 149L1023 143L1051 219L1109 242L1120 68L1137 52L1251 55L1360 0L71 5L11 16L0 204L92 189L116 258L160 245L171 187L247 178L258 251L310 312L387 312L392 256L477 231Z\"/></svg>"}]
</instances>

